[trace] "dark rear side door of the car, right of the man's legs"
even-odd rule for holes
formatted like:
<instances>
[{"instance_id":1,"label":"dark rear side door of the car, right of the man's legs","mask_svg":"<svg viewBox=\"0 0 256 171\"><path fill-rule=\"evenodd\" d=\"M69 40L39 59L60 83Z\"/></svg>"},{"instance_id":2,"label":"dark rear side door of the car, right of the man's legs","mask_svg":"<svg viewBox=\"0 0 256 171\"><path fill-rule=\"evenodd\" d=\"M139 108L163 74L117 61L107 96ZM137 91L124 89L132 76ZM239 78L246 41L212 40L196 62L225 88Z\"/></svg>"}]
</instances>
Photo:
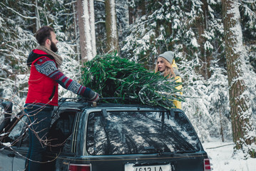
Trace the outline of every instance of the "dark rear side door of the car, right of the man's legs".
<instances>
[{"instance_id":1,"label":"dark rear side door of the car, right of the man's legs","mask_svg":"<svg viewBox=\"0 0 256 171\"><path fill-rule=\"evenodd\" d=\"M46 164L48 171L68 170L68 161L73 157L71 145L73 140L73 125L77 110L63 110L53 121L48 133L49 145L46 149Z\"/></svg>"}]
</instances>

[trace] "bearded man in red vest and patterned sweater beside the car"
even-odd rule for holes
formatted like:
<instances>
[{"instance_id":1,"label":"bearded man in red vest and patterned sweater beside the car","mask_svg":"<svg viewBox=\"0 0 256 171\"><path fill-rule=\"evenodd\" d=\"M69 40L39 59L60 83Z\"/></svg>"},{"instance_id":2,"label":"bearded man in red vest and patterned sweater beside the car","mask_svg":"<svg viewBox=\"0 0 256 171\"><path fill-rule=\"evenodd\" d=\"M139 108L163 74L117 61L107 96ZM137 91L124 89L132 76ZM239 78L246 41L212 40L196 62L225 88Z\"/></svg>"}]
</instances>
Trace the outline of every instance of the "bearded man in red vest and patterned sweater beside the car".
<instances>
[{"instance_id":1,"label":"bearded man in red vest and patterned sweater beside the car","mask_svg":"<svg viewBox=\"0 0 256 171\"><path fill-rule=\"evenodd\" d=\"M31 67L25 112L29 115L29 152L26 170L43 170L46 135L51 125L53 107L58 105L58 84L73 93L98 101L98 93L67 78L58 68L62 58L56 54L58 43L53 28L43 26L36 32L39 46L29 54Z\"/></svg>"}]
</instances>

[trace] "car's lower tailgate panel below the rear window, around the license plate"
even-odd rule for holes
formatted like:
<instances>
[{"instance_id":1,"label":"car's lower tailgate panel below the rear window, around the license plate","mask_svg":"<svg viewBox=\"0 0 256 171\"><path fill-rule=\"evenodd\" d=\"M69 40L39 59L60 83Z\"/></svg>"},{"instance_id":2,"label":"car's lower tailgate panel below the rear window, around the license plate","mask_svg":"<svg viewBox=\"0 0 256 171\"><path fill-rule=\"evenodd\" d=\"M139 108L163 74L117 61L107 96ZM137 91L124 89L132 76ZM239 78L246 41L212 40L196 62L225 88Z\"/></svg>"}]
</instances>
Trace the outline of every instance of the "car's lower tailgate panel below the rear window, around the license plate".
<instances>
[{"instance_id":1,"label":"car's lower tailgate panel below the rear window, around the license plate","mask_svg":"<svg viewBox=\"0 0 256 171\"><path fill-rule=\"evenodd\" d=\"M77 164L91 164L92 171L94 170L120 170L125 169L125 165L164 165L170 163L173 170L203 170L203 158L207 157L206 153L197 155L174 155L162 156L158 155L115 155L104 157L78 157L71 161ZM185 161L185 162L184 162ZM189 161L189 162L188 162ZM185 163L185 165L184 165ZM195 166L195 163L198 163ZM193 165L193 168L190 167Z\"/></svg>"}]
</instances>

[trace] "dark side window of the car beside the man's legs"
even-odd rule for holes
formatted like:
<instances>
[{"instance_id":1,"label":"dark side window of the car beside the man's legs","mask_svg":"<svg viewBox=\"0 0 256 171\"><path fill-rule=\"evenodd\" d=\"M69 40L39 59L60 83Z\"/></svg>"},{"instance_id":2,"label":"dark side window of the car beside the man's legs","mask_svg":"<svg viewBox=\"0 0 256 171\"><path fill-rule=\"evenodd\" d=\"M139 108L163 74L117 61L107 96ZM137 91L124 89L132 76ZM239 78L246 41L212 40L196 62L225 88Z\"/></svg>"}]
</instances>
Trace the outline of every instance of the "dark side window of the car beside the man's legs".
<instances>
[{"instance_id":1,"label":"dark side window of the car beside the man's legs","mask_svg":"<svg viewBox=\"0 0 256 171\"><path fill-rule=\"evenodd\" d=\"M48 151L59 152L63 150L71 136L75 115L76 111L63 112L53 123L48 133Z\"/></svg>"}]
</instances>

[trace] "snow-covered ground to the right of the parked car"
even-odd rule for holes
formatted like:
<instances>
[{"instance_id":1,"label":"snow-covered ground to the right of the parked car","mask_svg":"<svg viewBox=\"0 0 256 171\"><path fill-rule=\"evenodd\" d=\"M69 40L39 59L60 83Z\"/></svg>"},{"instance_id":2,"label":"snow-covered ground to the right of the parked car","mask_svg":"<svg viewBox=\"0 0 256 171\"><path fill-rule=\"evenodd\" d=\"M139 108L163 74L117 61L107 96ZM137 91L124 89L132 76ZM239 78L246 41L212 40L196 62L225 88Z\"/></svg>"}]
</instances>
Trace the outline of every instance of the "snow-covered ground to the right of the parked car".
<instances>
[{"instance_id":1,"label":"snow-covered ground to the right of the parked car","mask_svg":"<svg viewBox=\"0 0 256 171\"><path fill-rule=\"evenodd\" d=\"M256 158L244 160L242 154L234 157L232 144L232 142L221 142L221 140L216 139L203 143L203 147L210 157L212 170L255 171Z\"/></svg>"}]
</instances>

